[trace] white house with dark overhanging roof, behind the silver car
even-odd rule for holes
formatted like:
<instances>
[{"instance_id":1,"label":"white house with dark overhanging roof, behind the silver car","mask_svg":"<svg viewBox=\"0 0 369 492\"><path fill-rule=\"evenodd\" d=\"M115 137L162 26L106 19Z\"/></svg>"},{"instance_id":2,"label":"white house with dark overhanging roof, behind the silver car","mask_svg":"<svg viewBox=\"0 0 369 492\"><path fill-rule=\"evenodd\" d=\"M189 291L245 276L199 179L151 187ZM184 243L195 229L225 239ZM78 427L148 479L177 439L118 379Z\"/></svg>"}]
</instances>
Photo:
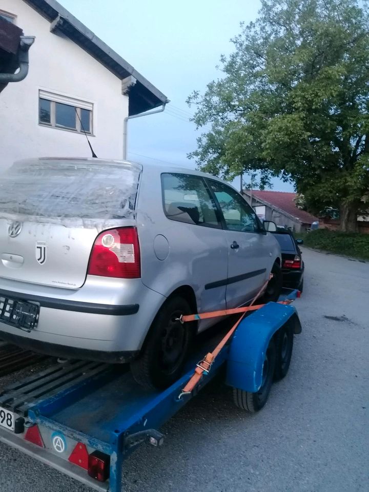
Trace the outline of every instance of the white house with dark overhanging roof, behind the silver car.
<instances>
[{"instance_id":1,"label":"white house with dark overhanging roof, behind the silver car","mask_svg":"<svg viewBox=\"0 0 369 492\"><path fill-rule=\"evenodd\" d=\"M167 97L54 0L0 0L36 37L25 80L0 97L0 169L25 157L124 157L127 117Z\"/></svg>"}]
</instances>

